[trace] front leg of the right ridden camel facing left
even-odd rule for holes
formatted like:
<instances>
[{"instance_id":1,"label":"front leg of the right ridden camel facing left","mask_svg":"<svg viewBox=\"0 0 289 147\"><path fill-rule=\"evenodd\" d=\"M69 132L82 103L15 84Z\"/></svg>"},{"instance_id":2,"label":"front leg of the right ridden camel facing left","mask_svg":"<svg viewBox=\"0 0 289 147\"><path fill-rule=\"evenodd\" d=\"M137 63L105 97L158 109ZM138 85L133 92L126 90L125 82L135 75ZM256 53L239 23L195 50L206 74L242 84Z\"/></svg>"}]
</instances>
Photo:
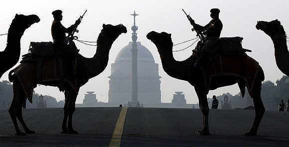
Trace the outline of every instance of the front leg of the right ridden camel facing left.
<instances>
[{"instance_id":1,"label":"front leg of the right ridden camel facing left","mask_svg":"<svg viewBox=\"0 0 289 147\"><path fill-rule=\"evenodd\" d=\"M196 91L198 99L199 99L200 110L203 114L202 129L197 132L197 135L210 135L209 122L208 122L208 120L209 120L209 106L208 106L208 101L207 101L207 95L203 89L195 88L195 91Z\"/></svg>"}]
</instances>

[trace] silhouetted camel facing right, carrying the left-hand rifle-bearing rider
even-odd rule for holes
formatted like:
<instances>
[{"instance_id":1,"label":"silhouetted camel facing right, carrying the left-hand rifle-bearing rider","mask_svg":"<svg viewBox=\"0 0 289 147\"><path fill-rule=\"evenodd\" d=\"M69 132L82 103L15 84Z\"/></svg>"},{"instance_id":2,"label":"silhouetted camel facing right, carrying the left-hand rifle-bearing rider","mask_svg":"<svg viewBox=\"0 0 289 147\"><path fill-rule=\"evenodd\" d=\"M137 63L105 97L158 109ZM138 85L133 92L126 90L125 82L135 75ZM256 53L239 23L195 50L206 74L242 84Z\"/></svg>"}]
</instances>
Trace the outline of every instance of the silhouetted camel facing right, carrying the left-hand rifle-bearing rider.
<instances>
[{"instance_id":1,"label":"silhouetted camel facing right, carrying the left-hand rifle-bearing rider","mask_svg":"<svg viewBox=\"0 0 289 147\"><path fill-rule=\"evenodd\" d=\"M96 53L92 58L83 57L80 54L77 54L74 61L74 72L75 72L75 83L76 87L73 87L66 82L64 85L65 88L65 105L64 105L64 118L62 123L62 133L63 134L78 134L72 127L72 116L75 111L75 101L78 95L78 90L81 86L88 82L89 79L99 75L104 71L108 64L109 59L109 51L113 42L118 38L118 36L122 33L126 33L127 28L122 25L111 25L111 24L103 24L103 29L98 36L97 39L97 49ZM58 64L58 62L54 62L53 64L44 63L42 69L46 70L44 72L47 73L48 70L58 69L56 72L59 77L59 68L51 67L50 65ZM32 103L32 93L29 93L31 90L37 86L37 84L54 86L59 88L59 79L55 79L52 76L49 77L52 80L45 80L41 83L37 83L35 76L35 66L37 63L21 63L15 69L9 72L9 80L13 82L13 100L11 106L9 108L9 115L13 121L13 125L16 131L16 135L24 136L26 134L34 134L34 131L28 129L25 125L23 118L21 107L25 97ZM53 72L54 73L54 72ZM32 76L30 76L32 75ZM42 73L43 75L43 73ZM33 85L31 85L31 83ZM29 85L31 87L29 87ZM27 89L28 92L27 92ZM16 118L18 118L19 122L23 126L25 133L22 133L17 125ZM68 119L68 122L67 122Z\"/></svg>"}]
</instances>

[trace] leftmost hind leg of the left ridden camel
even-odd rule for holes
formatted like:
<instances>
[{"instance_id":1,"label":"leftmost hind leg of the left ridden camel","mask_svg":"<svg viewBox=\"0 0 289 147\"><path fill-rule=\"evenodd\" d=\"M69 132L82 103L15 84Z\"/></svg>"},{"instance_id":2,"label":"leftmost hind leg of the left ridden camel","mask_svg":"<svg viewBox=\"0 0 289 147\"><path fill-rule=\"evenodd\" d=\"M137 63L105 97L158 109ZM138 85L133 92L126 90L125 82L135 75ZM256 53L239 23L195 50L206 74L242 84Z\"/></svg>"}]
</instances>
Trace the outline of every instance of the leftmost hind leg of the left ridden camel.
<instances>
[{"instance_id":1,"label":"leftmost hind leg of the left ridden camel","mask_svg":"<svg viewBox=\"0 0 289 147\"><path fill-rule=\"evenodd\" d=\"M16 135L17 136L25 136L25 133L22 133L19 130L18 124L17 124L17 120L16 117L18 116L19 112L21 112L22 110L22 104L23 104L23 95L21 95L21 93L23 92L19 82L17 82L17 80L15 80L13 82L13 100L12 103L10 105L9 108L9 115L12 119L15 131L16 131Z\"/></svg>"}]
</instances>

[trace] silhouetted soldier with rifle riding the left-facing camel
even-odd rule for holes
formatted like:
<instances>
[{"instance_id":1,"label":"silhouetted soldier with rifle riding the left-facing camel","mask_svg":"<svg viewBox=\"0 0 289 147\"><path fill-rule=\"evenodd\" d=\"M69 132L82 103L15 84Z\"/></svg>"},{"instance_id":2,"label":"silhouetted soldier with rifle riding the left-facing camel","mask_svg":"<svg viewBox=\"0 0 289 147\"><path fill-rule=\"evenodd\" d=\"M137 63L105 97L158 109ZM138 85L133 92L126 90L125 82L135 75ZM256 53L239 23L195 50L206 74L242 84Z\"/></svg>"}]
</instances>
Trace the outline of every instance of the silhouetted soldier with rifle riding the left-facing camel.
<instances>
[{"instance_id":1,"label":"silhouetted soldier with rifle riding the left-facing camel","mask_svg":"<svg viewBox=\"0 0 289 147\"><path fill-rule=\"evenodd\" d=\"M203 34L206 35L204 45L201 48L201 54L194 65L195 67L198 67L199 64L202 62L203 58L206 58L207 56L209 56L210 52L212 52L211 50L217 43L218 38L220 38L220 34L223 28L223 24L219 19L220 10L218 8L212 8L210 12L212 20L207 25L201 26L199 24L195 24L195 29L203 32ZM194 23L194 21L190 22L191 24ZM194 28L192 28L192 31L194 31Z\"/></svg>"}]
</instances>

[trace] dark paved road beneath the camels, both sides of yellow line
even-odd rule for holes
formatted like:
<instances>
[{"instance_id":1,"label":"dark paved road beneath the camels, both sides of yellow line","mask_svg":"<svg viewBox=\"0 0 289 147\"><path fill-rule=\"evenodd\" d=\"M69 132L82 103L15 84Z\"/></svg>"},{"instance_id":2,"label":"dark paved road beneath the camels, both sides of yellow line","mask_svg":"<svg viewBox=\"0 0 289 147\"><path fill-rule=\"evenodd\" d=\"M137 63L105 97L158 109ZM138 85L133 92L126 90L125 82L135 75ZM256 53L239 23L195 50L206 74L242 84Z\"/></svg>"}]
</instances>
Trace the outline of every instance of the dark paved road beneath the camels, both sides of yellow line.
<instances>
[{"instance_id":1,"label":"dark paved road beneath the camels, both sides of yellow line","mask_svg":"<svg viewBox=\"0 0 289 147\"><path fill-rule=\"evenodd\" d=\"M77 108L79 135L62 135L60 108L29 109L23 117L35 135L13 136L7 112L0 112L0 147L108 147L121 108ZM289 113L266 112L257 137L241 136L252 125L254 111L211 110L211 136L196 136L197 109L129 108L121 147L281 147L289 145Z\"/></svg>"}]
</instances>

